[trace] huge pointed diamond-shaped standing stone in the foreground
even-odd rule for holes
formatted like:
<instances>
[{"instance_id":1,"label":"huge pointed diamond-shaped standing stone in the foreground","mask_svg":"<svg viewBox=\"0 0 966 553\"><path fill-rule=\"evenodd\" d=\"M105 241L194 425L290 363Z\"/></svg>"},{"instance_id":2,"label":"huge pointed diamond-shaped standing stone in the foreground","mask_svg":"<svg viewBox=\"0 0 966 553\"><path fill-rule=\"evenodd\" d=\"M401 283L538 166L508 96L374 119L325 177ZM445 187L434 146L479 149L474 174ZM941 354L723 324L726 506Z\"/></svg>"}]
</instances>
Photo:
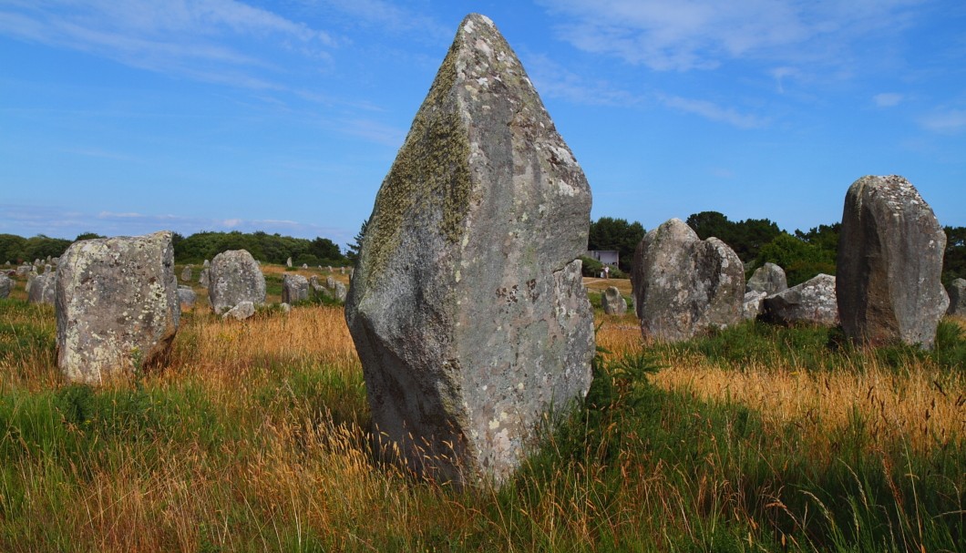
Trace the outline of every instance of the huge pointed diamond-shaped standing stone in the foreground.
<instances>
[{"instance_id":1,"label":"huge pointed diamond-shaped standing stone in the foreground","mask_svg":"<svg viewBox=\"0 0 966 553\"><path fill-rule=\"evenodd\" d=\"M470 14L376 198L346 304L384 455L501 482L544 414L586 394L589 211L513 50Z\"/></svg>"}]
</instances>

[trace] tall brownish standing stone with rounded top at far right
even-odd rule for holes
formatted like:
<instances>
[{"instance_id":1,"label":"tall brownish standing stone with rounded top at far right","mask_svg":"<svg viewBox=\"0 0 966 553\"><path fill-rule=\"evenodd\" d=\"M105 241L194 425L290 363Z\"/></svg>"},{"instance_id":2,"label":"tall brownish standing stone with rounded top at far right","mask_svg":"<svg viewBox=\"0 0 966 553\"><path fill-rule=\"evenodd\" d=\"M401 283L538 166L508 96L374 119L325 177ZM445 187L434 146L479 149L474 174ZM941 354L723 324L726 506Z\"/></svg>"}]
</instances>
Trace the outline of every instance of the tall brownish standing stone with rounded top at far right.
<instances>
[{"instance_id":1,"label":"tall brownish standing stone with rounded top at far right","mask_svg":"<svg viewBox=\"0 0 966 553\"><path fill-rule=\"evenodd\" d=\"M849 338L932 347L949 297L939 280L946 233L908 180L863 177L845 194L838 312Z\"/></svg>"}]
</instances>

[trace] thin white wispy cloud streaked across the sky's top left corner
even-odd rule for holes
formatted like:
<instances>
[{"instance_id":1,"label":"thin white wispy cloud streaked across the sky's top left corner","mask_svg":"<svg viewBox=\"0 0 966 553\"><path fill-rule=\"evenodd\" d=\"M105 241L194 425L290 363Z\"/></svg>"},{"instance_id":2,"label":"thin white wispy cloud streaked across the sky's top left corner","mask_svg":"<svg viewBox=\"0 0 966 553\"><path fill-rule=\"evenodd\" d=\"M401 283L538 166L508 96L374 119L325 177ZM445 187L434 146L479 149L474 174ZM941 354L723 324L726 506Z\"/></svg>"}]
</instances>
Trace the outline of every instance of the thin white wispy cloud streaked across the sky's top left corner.
<instances>
[{"instance_id":1,"label":"thin white wispy cloud streaked across the sky's top left corner","mask_svg":"<svg viewBox=\"0 0 966 553\"><path fill-rule=\"evenodd\" d=\"M0 8L0 34L85 51L139 69L246 88L273 88L264 50L326 59L336 41L235 0L51 0Z\"/></svg>"}]
</instances>

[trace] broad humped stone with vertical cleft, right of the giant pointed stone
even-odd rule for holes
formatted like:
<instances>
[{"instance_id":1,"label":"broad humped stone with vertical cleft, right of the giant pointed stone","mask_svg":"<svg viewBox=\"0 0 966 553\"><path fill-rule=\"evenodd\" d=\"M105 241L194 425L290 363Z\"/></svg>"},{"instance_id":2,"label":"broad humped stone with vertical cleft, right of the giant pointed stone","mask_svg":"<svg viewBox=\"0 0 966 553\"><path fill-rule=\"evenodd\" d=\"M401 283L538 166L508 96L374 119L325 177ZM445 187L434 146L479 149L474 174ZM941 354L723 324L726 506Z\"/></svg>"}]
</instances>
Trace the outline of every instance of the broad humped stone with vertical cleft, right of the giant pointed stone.
<instances>
[{"instance_id":1,"label":"broad humped stone with vertical cleft, right of the giant pointed stone","mask_svg":"<svg viewBox=\"0 0 966 553\"><path fill-rule=\"evenodd\" d=\"M678 342L742 320L741 260L725 242L701 240L680 219L640 240L631 282L644 336Z\"/></svg>"}]
</instances>

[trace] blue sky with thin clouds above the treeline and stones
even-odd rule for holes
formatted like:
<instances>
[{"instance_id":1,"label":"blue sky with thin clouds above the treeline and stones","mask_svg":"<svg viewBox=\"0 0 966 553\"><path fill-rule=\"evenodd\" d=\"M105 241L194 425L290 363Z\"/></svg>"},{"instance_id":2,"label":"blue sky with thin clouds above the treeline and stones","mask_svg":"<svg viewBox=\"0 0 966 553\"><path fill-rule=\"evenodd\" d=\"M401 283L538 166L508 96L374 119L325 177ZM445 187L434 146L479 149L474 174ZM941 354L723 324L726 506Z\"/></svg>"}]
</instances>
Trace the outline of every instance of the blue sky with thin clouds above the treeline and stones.
<instances>
[{"instance_id":1,"label":"blue sky with thin clouds above the treeline and stones","mask_svg":"<svg viewBox=\"0 0 966 553\"><path fill-rule=\"evenodd\" d=\"M646 229L808 229L864 175L966 226L966 2L0 0L0 233L351 241L460 20Z\"/></svg>"}]
</instances>

